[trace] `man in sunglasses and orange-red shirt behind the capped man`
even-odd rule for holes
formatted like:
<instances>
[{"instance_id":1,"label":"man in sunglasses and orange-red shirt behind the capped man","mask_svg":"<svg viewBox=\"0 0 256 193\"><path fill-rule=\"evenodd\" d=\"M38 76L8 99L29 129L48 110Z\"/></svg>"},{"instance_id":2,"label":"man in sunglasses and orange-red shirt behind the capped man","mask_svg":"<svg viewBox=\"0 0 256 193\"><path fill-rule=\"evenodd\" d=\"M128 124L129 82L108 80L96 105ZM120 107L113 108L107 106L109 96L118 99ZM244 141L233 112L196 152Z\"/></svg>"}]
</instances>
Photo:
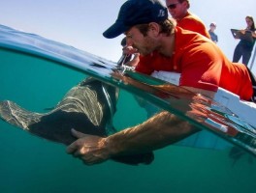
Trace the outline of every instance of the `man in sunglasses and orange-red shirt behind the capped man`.
<instances>
[{"instance_id":1,"label":"man in sunglasses and orange-red shirt behind the capped man","mask_svg":"<svg viewBox=\"0 0 256 193\"><path fill-rule=\"evenodd\" d=\"M210 39L204 22L197 15L188 11L190 8L189 0L166 0L166 7L172 17L176 19L178 27L197 32Z\"/></svg>"}]
</instances>

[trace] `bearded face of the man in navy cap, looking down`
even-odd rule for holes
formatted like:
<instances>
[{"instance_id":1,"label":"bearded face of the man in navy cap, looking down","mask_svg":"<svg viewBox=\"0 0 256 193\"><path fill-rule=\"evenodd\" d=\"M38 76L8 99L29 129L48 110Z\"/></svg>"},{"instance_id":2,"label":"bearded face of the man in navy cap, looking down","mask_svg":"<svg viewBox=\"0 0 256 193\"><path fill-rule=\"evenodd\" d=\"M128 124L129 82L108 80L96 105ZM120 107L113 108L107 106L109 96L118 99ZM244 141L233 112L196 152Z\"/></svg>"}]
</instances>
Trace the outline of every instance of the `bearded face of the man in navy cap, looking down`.
<instances>
[{"instance_id":1,"label":"bearded face of the man in navy cap, looking down","mask_svg":"<svg viewBox=\"0 0 256 193\"><path fill-rule=\"evenodd\" d=\"M150 32L144 36L136 27L132 27L125 33L127 46L133 46L142 55L147 55L156 50L157 41L150 36Z\"/></svg>"}]
</instances>

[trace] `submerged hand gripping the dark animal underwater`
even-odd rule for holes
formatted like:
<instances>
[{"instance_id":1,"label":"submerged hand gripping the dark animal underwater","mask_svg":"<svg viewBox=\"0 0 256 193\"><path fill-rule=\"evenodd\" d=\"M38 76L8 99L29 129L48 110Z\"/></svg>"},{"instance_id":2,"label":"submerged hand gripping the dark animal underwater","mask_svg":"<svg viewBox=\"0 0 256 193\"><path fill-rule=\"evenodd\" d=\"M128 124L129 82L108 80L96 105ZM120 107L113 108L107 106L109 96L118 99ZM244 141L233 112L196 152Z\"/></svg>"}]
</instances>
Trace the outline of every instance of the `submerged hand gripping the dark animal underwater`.
<instances>
[{"instance_id":1,"label":"submerged hand gripping the dark animal underwater","mask_svg":"<svg viewBox=\"0 0 256 193\"><path fill-rule=\"evenodd\" d=\"M79 157L86 165L101 163L110 158L106 138L84 134L75 129L71 131L78 140L68 146L68 153Z\"/></svg>"}]
</instances>

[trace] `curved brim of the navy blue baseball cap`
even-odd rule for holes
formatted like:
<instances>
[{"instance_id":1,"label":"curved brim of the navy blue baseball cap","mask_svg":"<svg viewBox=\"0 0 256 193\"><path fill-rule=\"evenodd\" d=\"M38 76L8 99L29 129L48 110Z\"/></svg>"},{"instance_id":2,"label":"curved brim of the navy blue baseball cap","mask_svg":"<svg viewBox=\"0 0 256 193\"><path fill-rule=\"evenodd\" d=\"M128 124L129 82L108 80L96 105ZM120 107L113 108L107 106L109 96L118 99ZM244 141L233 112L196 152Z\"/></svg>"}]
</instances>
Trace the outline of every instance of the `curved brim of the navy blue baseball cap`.
<instances>
[{"instance_id":1,"label":"curved brim of the navy blue baseball cap","mask_svg":"<svg viewBox=\"0 0 256 193\"><path fill-rule=\"evenodd\" d=\"M124 26L122 22L115 22L112 26L103 33L107 39L113 39L126 32L129 28Z\"/></svg>"}]
</instances>

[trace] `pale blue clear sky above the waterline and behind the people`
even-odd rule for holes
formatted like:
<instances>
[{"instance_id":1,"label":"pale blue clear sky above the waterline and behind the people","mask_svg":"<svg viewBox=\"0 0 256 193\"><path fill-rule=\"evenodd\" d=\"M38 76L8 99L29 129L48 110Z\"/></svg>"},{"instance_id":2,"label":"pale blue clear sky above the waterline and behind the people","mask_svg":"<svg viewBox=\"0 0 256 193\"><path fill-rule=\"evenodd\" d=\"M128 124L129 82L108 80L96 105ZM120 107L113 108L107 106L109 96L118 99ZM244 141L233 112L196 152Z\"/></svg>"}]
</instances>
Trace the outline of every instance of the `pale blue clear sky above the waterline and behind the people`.
<instances>
[{"instance_id":1,"label":"pale blue clear sky above the waterline and behind the people","mask_svg":"<svg viewBox=\"0 0 256 193\"><path fill-rule=\"evenodd\" d=\"M108 40L102 33L112 25L124 2L125 0L2 1L0 24L61 41L117 61L121 55L122 36ZM190 0L190 3L190 11L199 15L207 26L212 21L217 23L218 45L232 60L233 51L239 41L234 40L230 29L245 28L246 15L252 15L256 21L256 1ZM256 65L253 72L256 73Z\"/></svg>"}]
</instances>

